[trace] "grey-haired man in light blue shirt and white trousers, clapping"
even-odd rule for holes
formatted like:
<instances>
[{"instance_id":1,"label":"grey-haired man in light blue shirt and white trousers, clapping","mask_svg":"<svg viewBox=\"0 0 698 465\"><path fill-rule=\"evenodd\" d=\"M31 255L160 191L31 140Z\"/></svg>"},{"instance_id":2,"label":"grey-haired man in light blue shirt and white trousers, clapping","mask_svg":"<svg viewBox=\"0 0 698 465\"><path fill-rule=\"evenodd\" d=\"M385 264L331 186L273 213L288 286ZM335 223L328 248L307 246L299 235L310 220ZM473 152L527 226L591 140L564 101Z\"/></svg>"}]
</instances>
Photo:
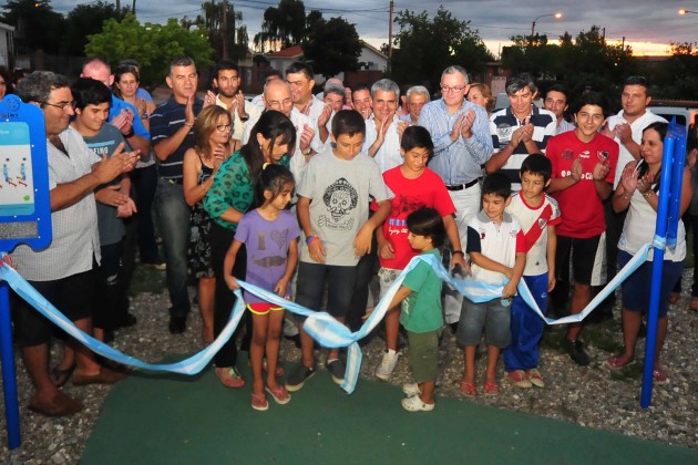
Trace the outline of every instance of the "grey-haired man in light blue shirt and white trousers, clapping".
<instances>
[{"instance_id":1,"label":"grey-haired man in light blue shirt and white trousers, clapping","mask_svg":"<svg viewBox=\"0 0 698 465\"><path fill-rule=\"evenodd\" d=\"M441 99L425 104L419 115L419 125L434 143L429 167L441 176L453 200L463 248L468 223L480 210L482 165L492 156L487 112L465 100L469 90L468 72L458 65L446 68L441 74ZM451 260L465 268L463 250L453 250ZM460 319L463 297L452 289L445 292L445 322L453 326Z\"/></svg>"}]
</instances>

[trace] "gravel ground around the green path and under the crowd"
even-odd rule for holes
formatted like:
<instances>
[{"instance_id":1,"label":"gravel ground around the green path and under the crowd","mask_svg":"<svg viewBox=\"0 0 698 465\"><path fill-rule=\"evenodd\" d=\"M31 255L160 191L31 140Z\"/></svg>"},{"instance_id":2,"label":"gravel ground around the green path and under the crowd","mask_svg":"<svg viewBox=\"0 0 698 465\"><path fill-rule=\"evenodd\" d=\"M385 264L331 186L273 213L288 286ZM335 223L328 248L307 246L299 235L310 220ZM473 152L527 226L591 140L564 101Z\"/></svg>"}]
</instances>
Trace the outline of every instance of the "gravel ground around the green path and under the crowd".
<instances>
[{"instance_id":1,"label":"gravel ground around the green path and under the crowd","mask_svg":"<svg viewBox=\"0 0 698 465\"><path fill-rule=\"evenodd\" d=\"M684 289L690 289L692 270L684 276ZM686 293L686 292L685 292ZM185 334L167 332L168 301L165 293L142 292L133 299L132 312L138 323L117 332L114 347L136 358L157 361L167 354L194 352L201 349L201 323L195 313L189 318ZM617 316L617 309L616 309ZM497 396L479 395L466 402L476 402L526 412L534 415L563 420L582 426L620 432L667 444L698 448L698 356L696 333L698 312L689 310L689 297L681 297L670 310L668 341L664 351L664 368L669 382L656 385L653 405L639 407L641 365L635 363L623 371L610 371L604 361L620 348L622 334L617 321L588 326L583 339L589 342L592 364L575 365L560 349L562 329L548 330L542 343L541 372L545 389L522 390L505 380L500 362L501 391ZM442 375L438 395L462 397L459 381L463 370L462 351L455 347L450 330L444 331L441 344ZM382 341L373 338L363 347L362 378L372 373L382 355ZM644 343L638 348L644 352ZM287 340L281 347L283 360L299 360L299 350ZM57 354L53 354L54 359ZM484 356L478 361L478 384L484 376ZM391 380L394 384L410 380L407 358L401 358ZM27 410L31 395L31 383L18 359L18 391L22 445L12 454L7 448L4 433L0 448L0 463L72 464L78 463L84 444L90 436L106 395L109 386L73 386L70 382L63 390L71 396L82 399L85 409L64 418L47 418ZM396 392L396 402L401 396ZM350 399L348 400L350 402ZM0 430L4 432L4 406L0 406Z\"/></svg>"}]
</instances>

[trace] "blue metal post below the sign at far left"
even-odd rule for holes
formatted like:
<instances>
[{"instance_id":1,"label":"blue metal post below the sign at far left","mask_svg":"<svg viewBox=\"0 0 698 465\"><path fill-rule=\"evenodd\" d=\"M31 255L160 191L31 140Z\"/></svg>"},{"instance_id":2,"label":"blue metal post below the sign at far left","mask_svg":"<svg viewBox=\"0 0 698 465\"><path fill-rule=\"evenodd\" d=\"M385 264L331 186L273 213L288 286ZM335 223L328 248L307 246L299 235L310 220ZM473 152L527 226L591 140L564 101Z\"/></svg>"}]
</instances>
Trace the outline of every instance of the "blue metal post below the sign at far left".
<instances>
[{"instance_id":1,"label":"blue metal post below the sign at far left","mask_svg":"<svg viewBox=\"0 0 698 465\"><path fill-rule=\"evenodd\" d=\"M19 404L17 402L17 376L14 351L12 350L12 323L10 319L10 288L0 280L0 356L2 360L2 389L4 392L4 418L7 421L8 447L21 444Z\"/></svg>"}]
</instances>

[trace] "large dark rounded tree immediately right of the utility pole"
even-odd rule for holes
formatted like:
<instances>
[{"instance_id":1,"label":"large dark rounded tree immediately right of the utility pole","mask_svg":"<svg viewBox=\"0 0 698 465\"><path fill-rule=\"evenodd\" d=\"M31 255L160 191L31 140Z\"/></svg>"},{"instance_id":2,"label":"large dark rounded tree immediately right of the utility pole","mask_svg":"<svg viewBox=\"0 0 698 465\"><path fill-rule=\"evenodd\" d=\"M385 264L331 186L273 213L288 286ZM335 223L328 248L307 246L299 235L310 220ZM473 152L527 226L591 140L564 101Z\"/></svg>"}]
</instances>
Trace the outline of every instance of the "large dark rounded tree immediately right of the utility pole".
<instances>
[{"instance_id":1,"label":"large dark rounded tree immediately right of the utility pole","mask_svg":"<svg viewBox=\"0 0 698 465\"><path fill-rule=\"evenodd\" d=\"M464 65L470 73L481 73L494 58L470 21L460 21L443 7L430 19L427 11L415 14L403 10L396 17L400 25L393 39L391 76L401 84L439 86L441 73L452 64Z\"/></svg>"}]
</instances>

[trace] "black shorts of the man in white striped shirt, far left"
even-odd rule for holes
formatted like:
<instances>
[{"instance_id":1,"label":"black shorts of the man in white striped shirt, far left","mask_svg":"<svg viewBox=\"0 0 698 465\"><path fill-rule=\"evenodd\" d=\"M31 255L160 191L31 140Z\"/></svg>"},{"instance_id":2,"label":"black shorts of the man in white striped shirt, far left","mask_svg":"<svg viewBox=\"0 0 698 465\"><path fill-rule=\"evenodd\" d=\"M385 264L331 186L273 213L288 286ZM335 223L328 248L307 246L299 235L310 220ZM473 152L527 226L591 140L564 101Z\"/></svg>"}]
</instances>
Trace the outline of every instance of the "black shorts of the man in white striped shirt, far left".
<instances>
[{"instance_id":1,"label":"black shorts of the man in white striped shirt, far left","mask_svg":"<svg viewBox=\"0 0 698 465\"><path fill-rule=\"evenodd\" d=\"M30 285L69 320L79 321L92 318L95 277L95 272L89 270L53 281L30 281ZM55 329L53 323L24 299L16 297L13 314L18 345L33 347L48 343Z\"/></svg>"}]
</instances>

